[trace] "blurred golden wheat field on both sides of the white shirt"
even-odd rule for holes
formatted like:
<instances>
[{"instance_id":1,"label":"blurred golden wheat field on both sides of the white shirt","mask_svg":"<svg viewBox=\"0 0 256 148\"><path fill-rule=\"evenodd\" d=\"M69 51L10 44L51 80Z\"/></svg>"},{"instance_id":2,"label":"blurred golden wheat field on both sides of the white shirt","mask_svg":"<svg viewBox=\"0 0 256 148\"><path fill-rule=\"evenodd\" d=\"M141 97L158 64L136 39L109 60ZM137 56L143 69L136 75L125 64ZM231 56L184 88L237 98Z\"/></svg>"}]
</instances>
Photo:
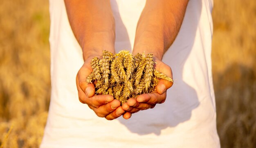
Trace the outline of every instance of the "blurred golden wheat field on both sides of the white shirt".
<instances>
[{"instance_id":1,"label":"blurred golden wheat field on both sides of the white shirt","mask_svg":"<svg viewBox=\"0 0 256 148\"><path fill-rule=\"evenodd\" d=\"M213 81L221 145L255 148L256 1L214 0L213 22ZM48 1L0 2L1 146L40 144L50 98L48 37Z\"/></svg>"}]
</instances>

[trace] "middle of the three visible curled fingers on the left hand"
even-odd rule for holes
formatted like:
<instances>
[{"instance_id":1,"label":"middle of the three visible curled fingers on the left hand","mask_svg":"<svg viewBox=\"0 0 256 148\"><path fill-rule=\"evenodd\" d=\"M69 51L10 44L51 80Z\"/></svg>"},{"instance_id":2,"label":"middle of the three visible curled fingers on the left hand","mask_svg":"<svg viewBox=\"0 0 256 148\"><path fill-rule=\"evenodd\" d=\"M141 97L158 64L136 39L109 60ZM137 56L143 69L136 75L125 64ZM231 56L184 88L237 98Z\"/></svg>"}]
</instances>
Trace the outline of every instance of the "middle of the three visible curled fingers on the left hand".
<instances>
[{"instance_id":1,"label":"middle of the three visible curled fingers on the left hand","mask_svg":"<svg viewBox=\"0 0 256 148\"><path fill-rule=\"evenodd\" d=\"M91 108L99 117L106 117L108 114L116 110L119 106L121 106L121 102L117 99L107 103L105 105L101 105L99 108Z\"/></svg>"}]
</instances>

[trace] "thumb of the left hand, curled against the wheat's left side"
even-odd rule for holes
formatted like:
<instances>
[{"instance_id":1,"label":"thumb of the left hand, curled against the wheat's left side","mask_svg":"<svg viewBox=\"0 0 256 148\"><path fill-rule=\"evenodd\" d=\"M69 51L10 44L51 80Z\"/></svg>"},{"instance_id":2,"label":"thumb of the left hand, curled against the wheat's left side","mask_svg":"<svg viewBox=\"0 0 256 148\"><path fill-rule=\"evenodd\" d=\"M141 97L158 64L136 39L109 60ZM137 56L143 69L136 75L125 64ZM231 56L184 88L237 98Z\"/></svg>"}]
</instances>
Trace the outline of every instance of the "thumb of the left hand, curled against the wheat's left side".
<instances>
[{"instance_id":1,"label":"thumb of the left hand, curled against the wheat's left side","mask_svg":"<svg viewBox=\"0 0 256 148\"><path fill-rule=\"evenodd\" d=\"M86 94L87 97L92 97L95 94L94 84L87 83L86 79L92 72L90 62L85 61L81 69L77 73L78 84L81 90Z\"/></svg>"}]
</instances>

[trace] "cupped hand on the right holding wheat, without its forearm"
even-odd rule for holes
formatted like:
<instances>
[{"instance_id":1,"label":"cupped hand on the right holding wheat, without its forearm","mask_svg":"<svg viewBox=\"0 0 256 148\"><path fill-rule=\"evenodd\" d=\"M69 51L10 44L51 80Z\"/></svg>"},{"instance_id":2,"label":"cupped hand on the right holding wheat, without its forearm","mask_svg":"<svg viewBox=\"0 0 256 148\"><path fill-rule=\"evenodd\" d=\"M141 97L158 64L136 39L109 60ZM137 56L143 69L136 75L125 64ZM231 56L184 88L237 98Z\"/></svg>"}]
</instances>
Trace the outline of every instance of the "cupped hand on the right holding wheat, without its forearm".
<instances>
[{"instance_id":1,"label":"cupped hand on the right holding wheat, without its forearm","mask_svg":"<svg viewBox=\"0 0 256 148\"><path fill-rule=\"evenodd\" d=\"M171 67L169 67L157 58L155 58L154 60L154 68L157 71L166 74L170 78L173 78ZM128 99L127 103L124 103L122 105L122 109L126 111L126 117L129 117L131 116L132 113L139 112L140 110L154 108L156 104L164 103L164 101L166 100L166 90L170 88L172 85L172 82L160 79L156 86L156 91L148 94L141 94L137 96L137 98Z\"/></svg>"}]
</instances>

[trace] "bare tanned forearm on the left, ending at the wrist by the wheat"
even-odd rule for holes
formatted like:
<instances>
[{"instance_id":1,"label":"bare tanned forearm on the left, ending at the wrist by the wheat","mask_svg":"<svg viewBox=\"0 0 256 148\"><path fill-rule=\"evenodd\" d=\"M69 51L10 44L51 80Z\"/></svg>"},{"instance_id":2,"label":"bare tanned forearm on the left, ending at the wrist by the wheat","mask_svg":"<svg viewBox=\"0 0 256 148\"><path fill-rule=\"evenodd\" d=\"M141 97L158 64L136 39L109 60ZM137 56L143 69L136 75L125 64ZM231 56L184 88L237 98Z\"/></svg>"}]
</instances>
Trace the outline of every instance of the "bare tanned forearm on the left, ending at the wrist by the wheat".
<instances>
[{"instance_id":1,"label":"bare tanned forearm on the left, ending at the wrist by the wheat","mask_svg":"<svg viewBox=\"0 0 256 148\"><path fill-rule=\"evenodd\" d=\"M115 20L109 0L65 0L70 26L83 58L115 52Z\"/></svg>"}]
</instances>

